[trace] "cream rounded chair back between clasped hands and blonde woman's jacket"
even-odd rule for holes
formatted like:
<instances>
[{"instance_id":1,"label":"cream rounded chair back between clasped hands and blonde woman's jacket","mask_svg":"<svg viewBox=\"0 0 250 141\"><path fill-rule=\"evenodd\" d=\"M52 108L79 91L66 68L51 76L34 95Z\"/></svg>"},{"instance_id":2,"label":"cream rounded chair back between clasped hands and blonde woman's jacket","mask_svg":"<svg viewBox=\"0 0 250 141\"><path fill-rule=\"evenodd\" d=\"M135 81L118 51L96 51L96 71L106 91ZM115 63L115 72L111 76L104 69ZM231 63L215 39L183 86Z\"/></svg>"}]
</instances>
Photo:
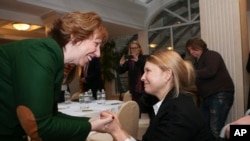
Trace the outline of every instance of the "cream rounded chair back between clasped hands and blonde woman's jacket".
<instances>
[{"instance_id":1,"label":"cream rounded chair back between clasped hands and blonde woman's jacket","mask_svg":"<svg viewBox=\"0 0 250 141\"><path fill-rule=\"evenodd\" d=\"M117 113L122 129L134 138L137 138L139 114L139 106L135 101L123 103Z\"/></svg>"}]
</instances>

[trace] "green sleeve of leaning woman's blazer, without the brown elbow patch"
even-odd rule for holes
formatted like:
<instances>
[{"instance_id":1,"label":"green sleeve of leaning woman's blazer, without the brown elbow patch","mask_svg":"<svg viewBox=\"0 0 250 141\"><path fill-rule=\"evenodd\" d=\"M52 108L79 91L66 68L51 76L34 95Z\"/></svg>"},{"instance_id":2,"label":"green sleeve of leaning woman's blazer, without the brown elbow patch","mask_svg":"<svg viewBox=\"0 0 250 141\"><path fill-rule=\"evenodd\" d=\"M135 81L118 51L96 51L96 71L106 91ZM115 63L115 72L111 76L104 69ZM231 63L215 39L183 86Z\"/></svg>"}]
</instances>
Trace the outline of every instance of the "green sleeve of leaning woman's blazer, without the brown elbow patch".
<instances>
[{"instance_id":1,"label":"green sleeve of leaning woman's blazer, without the brown elbow patch","mask_svg":"<svg viewBox=\"0 0 250 141\"><path fill-rule=\"evenodd\" d=\"M88 118L58 113L56 95L63 77L63 52L51 39L24 42L13 64L14 93L18 106L35 118L42 140L84 140L90 132Z\"/></svg>"}]
</instances>

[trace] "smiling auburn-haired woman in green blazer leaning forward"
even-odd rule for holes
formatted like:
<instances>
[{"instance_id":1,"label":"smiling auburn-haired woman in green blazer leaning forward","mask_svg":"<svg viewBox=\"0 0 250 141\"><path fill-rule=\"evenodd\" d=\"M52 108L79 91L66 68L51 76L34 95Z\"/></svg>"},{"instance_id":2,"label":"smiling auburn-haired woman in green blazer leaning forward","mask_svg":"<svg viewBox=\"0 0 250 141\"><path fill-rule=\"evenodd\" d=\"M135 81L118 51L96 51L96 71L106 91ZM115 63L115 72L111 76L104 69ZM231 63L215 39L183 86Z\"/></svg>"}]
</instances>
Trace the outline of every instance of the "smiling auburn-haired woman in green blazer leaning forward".
<instances>
[{"instance_id":1,"label":"smiling auburn-haired woman in green blazer leaning forward","mask_svg":"<svg viewBox=\"0 0 250 141\"><path fill-rule=\"evenodd\" d=\"M49 37L0 46L0 140L83 141L103 132L112 116L89 119L58 112L64 64L83 66L100 56L108 33L95 12L55 20Z\"/></svg>"}]
</instances>

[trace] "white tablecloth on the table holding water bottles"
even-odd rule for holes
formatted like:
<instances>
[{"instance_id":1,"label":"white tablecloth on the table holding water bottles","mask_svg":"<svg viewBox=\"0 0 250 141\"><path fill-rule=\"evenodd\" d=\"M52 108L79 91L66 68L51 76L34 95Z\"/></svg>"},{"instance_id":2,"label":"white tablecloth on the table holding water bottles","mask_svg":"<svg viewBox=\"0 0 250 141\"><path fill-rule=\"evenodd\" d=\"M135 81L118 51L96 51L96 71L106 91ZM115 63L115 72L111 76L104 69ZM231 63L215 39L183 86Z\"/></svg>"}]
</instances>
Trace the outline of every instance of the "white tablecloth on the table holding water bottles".
<instances>
[{"instance_id":1,"label":"white tablecloth on the table holding water bottles","mask_svg":"<svg viewBox=\"0 0 250 141\"><path fill-rule=\"evenodd\" d=\"M79 102L71 102L70 104L59 103L58 110L62 113L79 116L79 117L98 117L101 111L109 110L117 112L122 105L123 101L119 100L106 100L105 104L98 104L97 101L88 103L89 108L80 108Z\"/></svg>"}]
</instances>

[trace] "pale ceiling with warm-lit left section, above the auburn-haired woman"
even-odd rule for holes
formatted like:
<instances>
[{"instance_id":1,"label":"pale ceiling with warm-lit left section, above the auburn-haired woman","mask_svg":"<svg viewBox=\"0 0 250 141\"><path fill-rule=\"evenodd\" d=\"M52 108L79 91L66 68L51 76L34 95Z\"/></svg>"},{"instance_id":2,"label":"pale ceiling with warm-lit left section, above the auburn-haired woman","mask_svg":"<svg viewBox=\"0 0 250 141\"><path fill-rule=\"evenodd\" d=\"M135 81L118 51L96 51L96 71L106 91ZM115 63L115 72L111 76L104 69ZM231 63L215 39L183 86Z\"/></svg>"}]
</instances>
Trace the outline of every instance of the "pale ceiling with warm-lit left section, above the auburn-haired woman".
<instances>
[{"instance_id":1,"label":"pale ceiling with warm-lit left section, above the auburn-haired woman","mask_svg":"<svg viewBox=\"0 0 250 141\"><path fill-rule=\"evenodd\" d=\"M50 13L96 11L103 18L110 37L132 35L145 30L149 20L171 2L182 0L1 0L0 44L25 38L45 36L43 17ZM157 7L157 8L156 8ZM250 3L248 3L248 10ZM152 10L153 9L153 10ZM29 31L17 31L15 22L41 26Z\"/></svg>"}]
</instances>

